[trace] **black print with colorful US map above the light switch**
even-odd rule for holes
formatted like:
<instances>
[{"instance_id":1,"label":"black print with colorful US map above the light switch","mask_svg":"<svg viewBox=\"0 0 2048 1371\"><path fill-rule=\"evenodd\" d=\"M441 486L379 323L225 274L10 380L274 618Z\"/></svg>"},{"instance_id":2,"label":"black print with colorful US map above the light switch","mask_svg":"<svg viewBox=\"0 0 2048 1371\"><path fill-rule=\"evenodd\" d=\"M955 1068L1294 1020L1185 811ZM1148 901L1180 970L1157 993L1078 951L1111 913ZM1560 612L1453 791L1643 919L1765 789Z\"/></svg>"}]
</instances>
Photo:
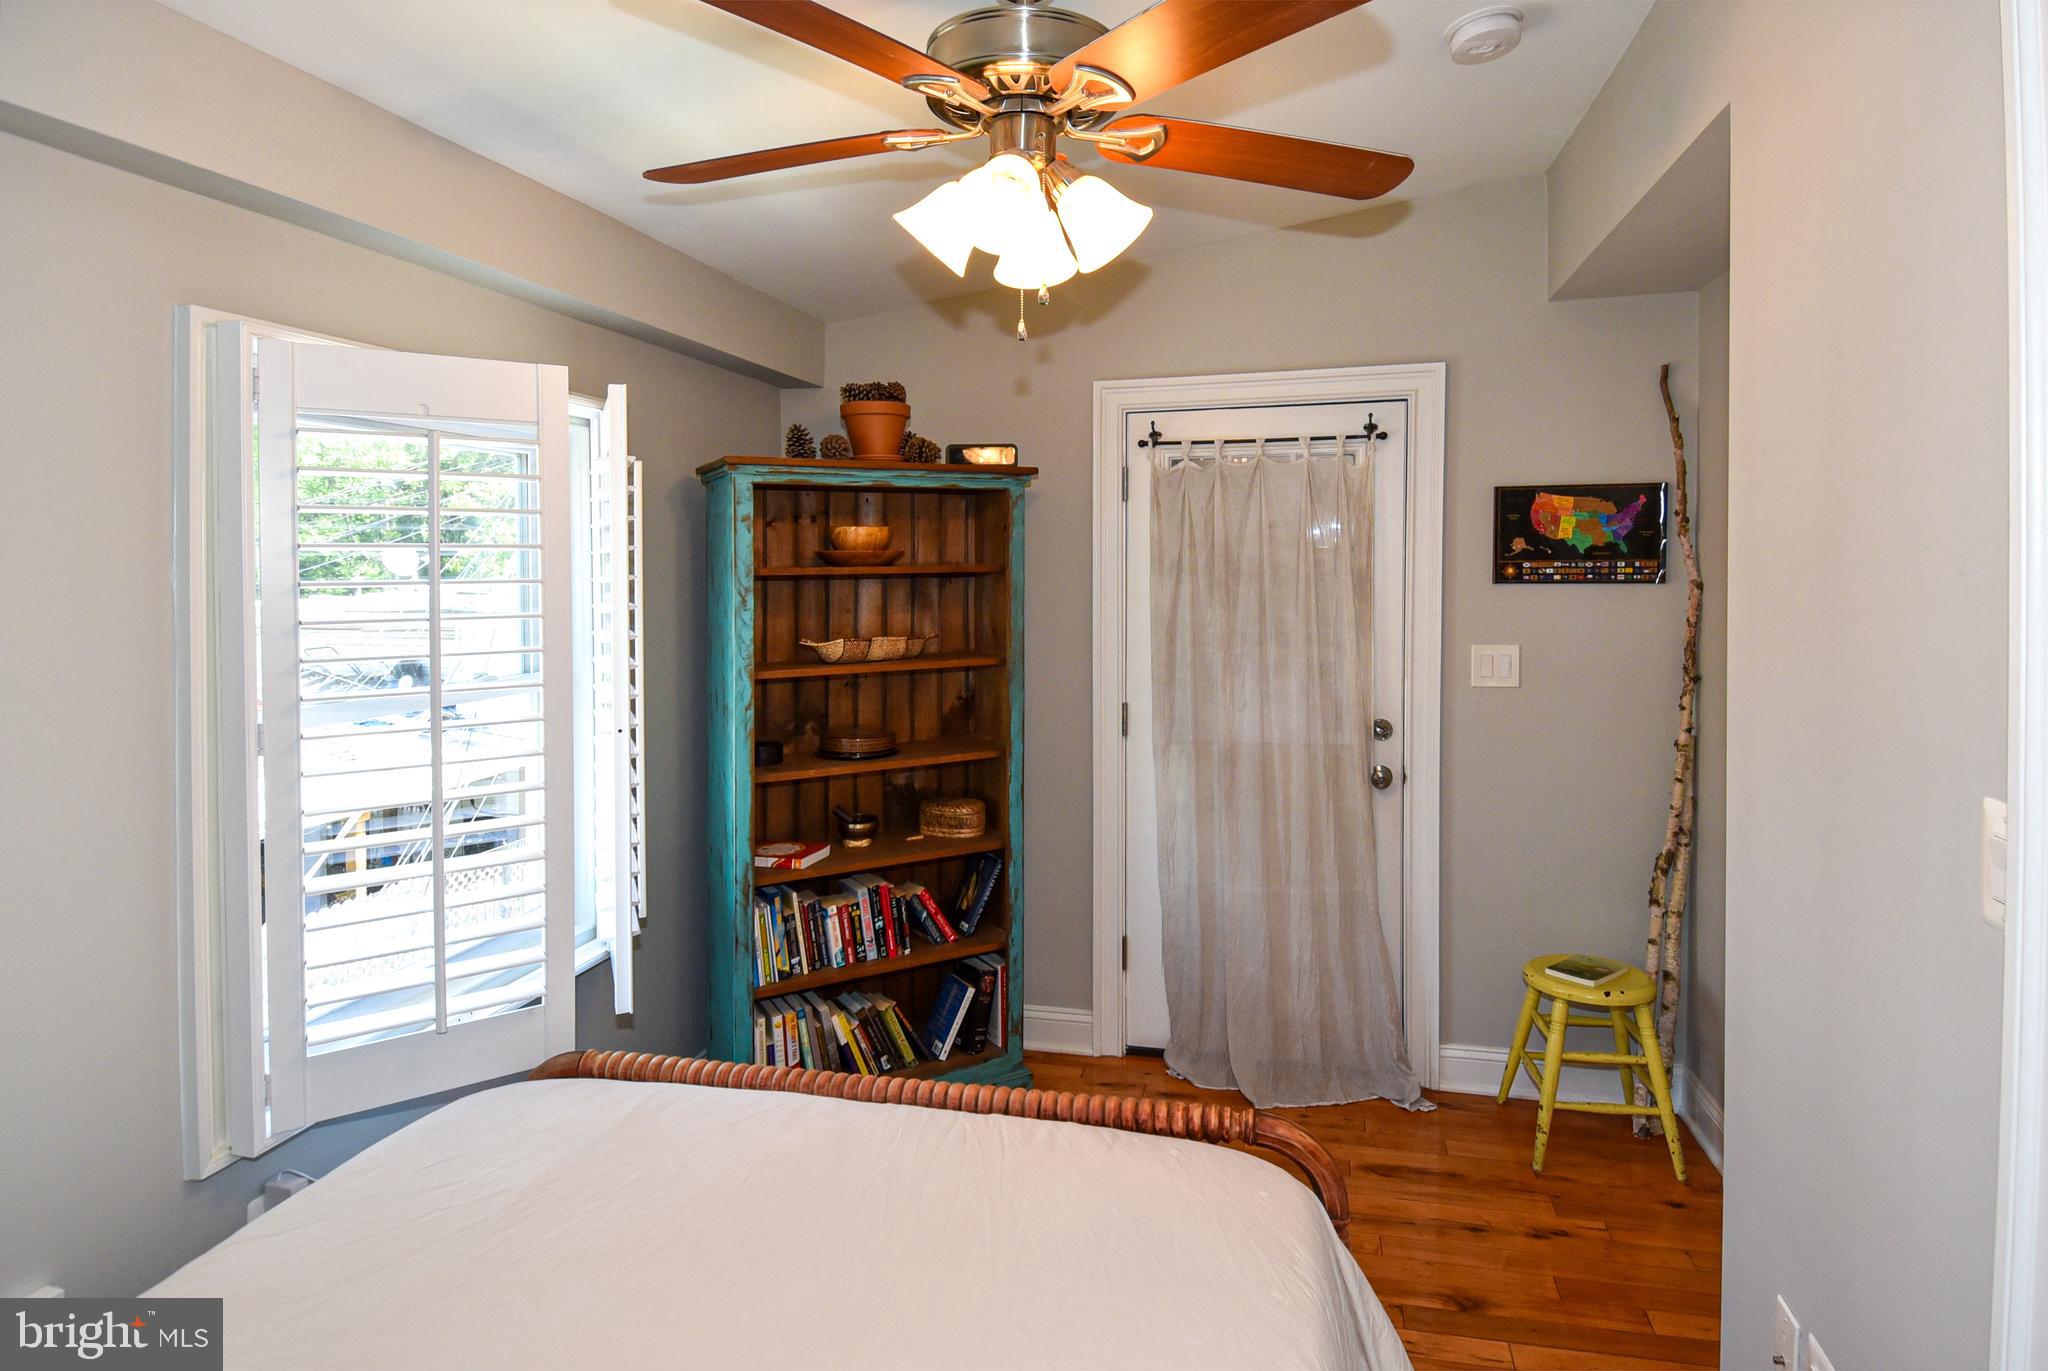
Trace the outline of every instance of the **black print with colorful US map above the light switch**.
<instances>
[{"instance_id":1,"label":"black print with colorful US map above the light switch","mask_svg":"<svg viewBox=\"0 0 2048 1371\"><path fill-rule=\"evenodd\" d=\"M1663 553L1663 482L1493 488L1497 586L1655 586Z\"/></svg>"}]
</instances>

